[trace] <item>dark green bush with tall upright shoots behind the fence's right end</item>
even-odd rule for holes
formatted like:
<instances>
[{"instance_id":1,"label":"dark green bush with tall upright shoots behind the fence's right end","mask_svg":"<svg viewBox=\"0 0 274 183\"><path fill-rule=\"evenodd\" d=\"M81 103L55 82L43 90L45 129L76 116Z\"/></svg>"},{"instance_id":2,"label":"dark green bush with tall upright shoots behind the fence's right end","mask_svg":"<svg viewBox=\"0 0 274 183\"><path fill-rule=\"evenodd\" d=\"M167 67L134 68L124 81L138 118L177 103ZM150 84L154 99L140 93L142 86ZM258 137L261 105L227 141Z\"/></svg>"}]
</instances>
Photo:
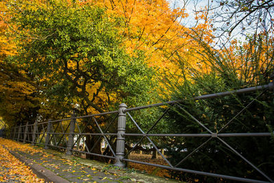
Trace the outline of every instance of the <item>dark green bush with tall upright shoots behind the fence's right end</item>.
<instances>
[{"instance_id":1,"label":"dark green bush with tall upright shoots behind the fence's right end","mask_svg":"<svg viewBox=\"0 0 274 183\"><path fill-rule=\"evenodd\" d=\"M267 41L268 38L267 38ZM266 41L266 42L267 42ZM269 84L273 72L273 58L268 57L273 51L264 47L266 42L251 40L249 47L245 45L240 51L234 53L221 50L219 53L205 46L201 62L210 68L209 73L203 73L190 68L192 77L186 78L181 86L173 88L172 99L184 99L182 103L171 107L166 116L166 123L170 132L178 134L208 134L209 132L199 125L197 119L213 133L249 133L271 132L274 126L273 91L228 95L214 99L194 100L192 97L210 93L220 93L251 86ZM271 42L271 41L269 41ZM203 42L201 42L203 44ZM271 46L268 46L269 48ZM238 59L238 60L237 60ZM241 62L238 67L237 62ZM264 64L260 64L264 60ZM185 73L185 75L186 75ZM255 100L247 109L240 112L252 100ZM236 114L238 116L233 119ZM233 119L233 120L232 120ZM230 121L229 125L226 124ZM223 128L223 130L221 130ZM220 137L232 146L242 156L250 160L260 170L270 177L274 169L274 138L267 137ZM227 145L218 138L185 137L169 138L166 141L166 155L173 165L177 164L192 151L195 151L179 167L206 171L238 177L264 180L263 176L253 169L245 160L236 155ZM195 150L199 145L205 143ZM171 172L173 178L195 182L216 182L216 178L194 175L183 172Z\"/></svg>"}]
</instances>

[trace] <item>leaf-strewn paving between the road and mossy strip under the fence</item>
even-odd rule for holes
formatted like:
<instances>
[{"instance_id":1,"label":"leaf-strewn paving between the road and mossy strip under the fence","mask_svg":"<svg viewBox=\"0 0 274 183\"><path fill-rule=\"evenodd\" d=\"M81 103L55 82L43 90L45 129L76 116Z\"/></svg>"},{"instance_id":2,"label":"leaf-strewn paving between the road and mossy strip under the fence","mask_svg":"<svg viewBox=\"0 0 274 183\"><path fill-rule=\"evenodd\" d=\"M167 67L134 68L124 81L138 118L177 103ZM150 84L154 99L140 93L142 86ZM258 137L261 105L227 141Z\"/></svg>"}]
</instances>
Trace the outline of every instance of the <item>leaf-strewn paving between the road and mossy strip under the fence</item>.
<instances>
[{"instance_id":1,"label":"leaf-strewn paving between the road and mossy strip under the fence","mask_svg":"<svg viewBox=\"0 0 274 183\"><path fill-rule=\"evenodd\" d=\"M127 176L108 173L108 171L79 164L76 160L62 158L59 154L47 153L40 147L0 139L1 144L5 145L10 151L33 160L34 163L42 165L60 177L69 180L69 182L138 182Z\"/></svg>"}]
</instances>

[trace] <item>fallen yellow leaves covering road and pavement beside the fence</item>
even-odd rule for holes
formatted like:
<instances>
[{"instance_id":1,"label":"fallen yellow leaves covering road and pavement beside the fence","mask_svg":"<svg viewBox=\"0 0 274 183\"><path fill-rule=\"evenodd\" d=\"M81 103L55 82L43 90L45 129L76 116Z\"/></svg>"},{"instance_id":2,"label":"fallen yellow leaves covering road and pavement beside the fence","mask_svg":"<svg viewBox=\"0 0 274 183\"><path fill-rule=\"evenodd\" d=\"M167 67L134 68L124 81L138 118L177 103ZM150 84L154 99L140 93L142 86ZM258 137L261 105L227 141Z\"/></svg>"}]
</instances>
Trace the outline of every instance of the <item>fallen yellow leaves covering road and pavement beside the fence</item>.
<instances>
[{"instance_id":1,"label":"fallen yellow leaves covering road and pavement beside the fence","mask_svg":"<svg viewBox=\"0 0 274 183\"><path fill-rule=\"evenodd\" d=\"M26 160L31 160L29 164L40 164L69 182L136 182L136 178L125 178L123 171L112 170L113 172L110 173L103 163L88 162L74 156L67 157L58 151L45 151L41 147L4 138L0 138L0 182L44 182L38 179L29 167L14 158L9 151L23 156ZM43 171L45 170L40 170L40 172Z\"/></svg>"}]
</instances>

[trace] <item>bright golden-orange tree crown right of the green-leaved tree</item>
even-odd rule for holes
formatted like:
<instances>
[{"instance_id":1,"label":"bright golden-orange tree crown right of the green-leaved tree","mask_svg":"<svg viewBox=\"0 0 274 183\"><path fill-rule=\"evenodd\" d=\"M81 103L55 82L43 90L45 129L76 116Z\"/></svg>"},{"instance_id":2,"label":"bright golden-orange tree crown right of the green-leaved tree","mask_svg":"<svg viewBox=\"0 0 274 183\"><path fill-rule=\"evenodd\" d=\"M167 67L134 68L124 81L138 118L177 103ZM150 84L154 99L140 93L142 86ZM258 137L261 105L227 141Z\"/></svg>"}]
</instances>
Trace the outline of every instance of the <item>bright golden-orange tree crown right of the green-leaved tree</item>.
<instances>
[{"instance_id":1,"label":"bright golden-orange tree crown right of the green-leaved tree","mask_svg":"<svg viewBox=\"0 0 274 183\"><path fill-rule=\"evenodd\" d=\"M124 37L123 44L127 53L136 54L143 51L147 64L159 71L160 76L154 80L160 81L160 87L170 93L164 84L164 77L169 77L173 84L182 82L182 67L178 62L201 68L198 63L199 54L195 49L199 44L193 41L192 31L202 34L203 40L210 42L211 32L208 31L208 21L200 23L190 30L182 25L182 20L188 14L184 8L169 8L168 1L86 1L92 5L101 5L107 9L110 17L123 17L120 29ZM206 19L205 14L197 14L199 19ZM205 69L205 66L201 70ZM159 78L160 77L160 78Z\"/></svg>"}]
</instances>

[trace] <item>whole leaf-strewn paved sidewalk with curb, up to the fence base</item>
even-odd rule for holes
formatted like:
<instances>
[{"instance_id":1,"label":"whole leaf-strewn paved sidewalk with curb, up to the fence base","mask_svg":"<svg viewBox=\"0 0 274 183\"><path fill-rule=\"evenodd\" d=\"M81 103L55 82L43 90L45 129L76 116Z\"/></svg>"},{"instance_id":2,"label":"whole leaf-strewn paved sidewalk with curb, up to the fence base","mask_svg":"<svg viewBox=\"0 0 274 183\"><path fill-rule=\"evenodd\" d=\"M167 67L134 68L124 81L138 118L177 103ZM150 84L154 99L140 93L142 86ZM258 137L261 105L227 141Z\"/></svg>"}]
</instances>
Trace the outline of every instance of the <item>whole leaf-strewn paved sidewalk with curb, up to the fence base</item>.
<instances>
[{"instance_id":1,"label":"whole leaf-strewn paved sidewalk with curb, up to the fence base","mask_svg":"<svg viewBox=\"0 0 274 183\"><path fill-rule=\"evenodd\" d=\"M175 182L131 170L113 169L110 165L75 156L65 156L59 151L45 150L6 139L5 141L5 149L32 167L34 173L44 178L46 182Z\"/></svg>"}]
</instances>

